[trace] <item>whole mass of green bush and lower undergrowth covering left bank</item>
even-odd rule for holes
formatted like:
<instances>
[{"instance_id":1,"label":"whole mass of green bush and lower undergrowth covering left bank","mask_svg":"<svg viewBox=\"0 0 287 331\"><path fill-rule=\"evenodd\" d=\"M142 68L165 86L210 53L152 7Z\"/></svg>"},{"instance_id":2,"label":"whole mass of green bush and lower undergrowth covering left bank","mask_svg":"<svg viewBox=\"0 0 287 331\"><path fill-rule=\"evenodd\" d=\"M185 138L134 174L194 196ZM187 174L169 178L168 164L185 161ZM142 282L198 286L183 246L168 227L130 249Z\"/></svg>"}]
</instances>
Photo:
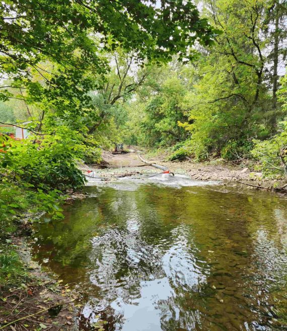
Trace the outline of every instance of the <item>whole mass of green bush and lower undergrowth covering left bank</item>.
<instances>
[{"instance_id":1,"label":"whole mass of green bush and lower undergrowth covering left bank","mask_svg":"<svg viewBox=\"0 0 287 331\"><path fill-rule=\"evenodd\" d=\"M76 161L86 146L83 136L65 126L55 128L53 135L42 140L2 139L0 153L0 227L5 237L12 233L14 221L23 212L47 212L62 218L59 205L63 192L78 189L84 176Z\"/></svg>"}]
</instances>

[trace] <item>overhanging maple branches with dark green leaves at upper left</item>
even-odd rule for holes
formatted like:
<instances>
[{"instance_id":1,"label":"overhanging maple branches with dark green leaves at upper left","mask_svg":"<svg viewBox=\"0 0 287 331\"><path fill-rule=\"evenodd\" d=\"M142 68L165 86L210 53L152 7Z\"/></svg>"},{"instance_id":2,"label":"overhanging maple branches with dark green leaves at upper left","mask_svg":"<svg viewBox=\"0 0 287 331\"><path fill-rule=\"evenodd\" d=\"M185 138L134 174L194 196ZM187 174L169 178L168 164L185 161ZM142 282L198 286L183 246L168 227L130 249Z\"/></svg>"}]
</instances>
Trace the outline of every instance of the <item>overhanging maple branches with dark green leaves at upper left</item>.
<instances>
[{"instance_id":1,"label":"overhanging maple branches with dark green leaves at upper left","mask_svg":"<svg viewBox=\"0 0 287 331\"><path fill-rule=\"evenodd\" d=\"M91 73L108 70L103 50L121 46L138 59L159 62L176 53L190 59L190 46L210 44L214 34L189 0L162 1L160 8L155 0L7 0L0 5L0 27L2 78L13 80L12 88L25 88L28 102L44 100L62 119L85 112L87 92L97 86ZM52 70L41 65L47 60ZM32 70L44 86L33 82ZM2 100L15 98L1 91Z\"/></svg>"}]
</instances>

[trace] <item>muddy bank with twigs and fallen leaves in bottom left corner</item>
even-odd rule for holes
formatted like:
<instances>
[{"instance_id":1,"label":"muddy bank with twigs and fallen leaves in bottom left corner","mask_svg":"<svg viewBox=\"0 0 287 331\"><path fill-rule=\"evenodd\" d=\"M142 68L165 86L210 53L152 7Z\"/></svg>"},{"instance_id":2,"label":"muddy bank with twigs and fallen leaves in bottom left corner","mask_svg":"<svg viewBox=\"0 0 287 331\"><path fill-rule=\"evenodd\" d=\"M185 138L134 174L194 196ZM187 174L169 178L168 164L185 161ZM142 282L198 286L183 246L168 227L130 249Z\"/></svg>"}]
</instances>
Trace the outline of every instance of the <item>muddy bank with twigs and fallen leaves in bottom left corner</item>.
<instances>
[{"instance_id":1,"label":"muddy bank with twigs and fallen leaves in bottom left corner","mask_svg":"<svg viewBox=\"0 0 287 331\"><path fill-rule=\"evenodd\" d=\"M25 231L28 228L26 225ZM70 284L63 284L61 279L45 272L31 259L23 236L13 237L11 245L22 260L24 272L17 282L0 285L0 329L77 330L78 296L70 289Z\"/></svg>"}]
</instances>

